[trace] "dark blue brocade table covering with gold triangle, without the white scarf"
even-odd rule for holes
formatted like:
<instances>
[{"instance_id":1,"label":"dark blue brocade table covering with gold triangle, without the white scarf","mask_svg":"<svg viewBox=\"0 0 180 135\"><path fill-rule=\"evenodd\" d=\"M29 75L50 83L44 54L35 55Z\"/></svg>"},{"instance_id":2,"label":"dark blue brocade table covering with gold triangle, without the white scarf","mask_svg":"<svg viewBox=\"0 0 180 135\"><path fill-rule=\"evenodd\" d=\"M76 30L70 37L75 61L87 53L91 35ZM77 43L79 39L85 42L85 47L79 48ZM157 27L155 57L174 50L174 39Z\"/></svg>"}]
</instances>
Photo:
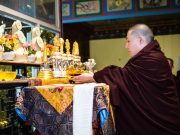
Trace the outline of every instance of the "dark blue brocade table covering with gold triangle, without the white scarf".
<instances>
[{"instance_id":1,"label":"dark blue brocade table covering with gold triangle, without the white scarf","mask_svg":"<svg viewBox=\"0 0 180 135\"><path fill-rule=\"evenodd\" d=\"M51 84L25 87L17 97L18 115L29 121L41 135L73 135L74 86L75 84ZM103 118L101 112L104 110L108 115ZM96 86L93 98L93 135L113 135L111 114L109 87Z\"/></svg>"}]
</instances>

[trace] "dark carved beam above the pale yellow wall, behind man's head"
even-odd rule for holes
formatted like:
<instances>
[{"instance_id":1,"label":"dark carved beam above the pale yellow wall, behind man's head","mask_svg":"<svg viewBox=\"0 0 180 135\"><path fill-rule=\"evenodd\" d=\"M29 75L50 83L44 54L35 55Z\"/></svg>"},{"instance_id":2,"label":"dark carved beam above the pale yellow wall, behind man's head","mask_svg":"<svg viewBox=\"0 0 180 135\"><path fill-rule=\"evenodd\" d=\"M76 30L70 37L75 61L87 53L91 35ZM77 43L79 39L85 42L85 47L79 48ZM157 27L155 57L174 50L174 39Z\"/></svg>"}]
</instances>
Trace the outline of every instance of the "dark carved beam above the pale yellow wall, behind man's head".
<instances>
[{"instance_id":1,"label":"dark carved beam above the pale yellow wall, behind man's head","mask_svg":"<svg viewBox=\"0 0 180 135\"><path fill-rule=\"evenodd\" d=\"M88 22L93 27L90 39L125 37L127 30L137 23L149 25L155 35L180 33L180 14L173 14Z\"/></svg>"}]
</instances>

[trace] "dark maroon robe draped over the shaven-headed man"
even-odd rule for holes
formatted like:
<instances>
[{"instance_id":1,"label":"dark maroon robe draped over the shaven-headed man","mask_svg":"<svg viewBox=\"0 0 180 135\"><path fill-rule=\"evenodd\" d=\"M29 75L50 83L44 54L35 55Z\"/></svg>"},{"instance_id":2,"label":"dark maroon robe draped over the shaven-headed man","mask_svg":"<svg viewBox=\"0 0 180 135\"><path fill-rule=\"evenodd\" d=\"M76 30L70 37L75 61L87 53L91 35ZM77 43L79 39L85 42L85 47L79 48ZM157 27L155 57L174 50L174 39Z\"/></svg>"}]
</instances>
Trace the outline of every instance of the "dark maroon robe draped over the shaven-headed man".
<instances>
[{"instance_id":1,"label":"dark maroon robe draped over the shaven-headed man","mask_svg":"<svg viewBox=\"0 0 180 135\"><path fill-rule=\"evenodd\" d=\"M152 41L123 67L94 74L110 86L117 135L180 135L180 103L166 57Z\"/></svg>"}]
</instances>

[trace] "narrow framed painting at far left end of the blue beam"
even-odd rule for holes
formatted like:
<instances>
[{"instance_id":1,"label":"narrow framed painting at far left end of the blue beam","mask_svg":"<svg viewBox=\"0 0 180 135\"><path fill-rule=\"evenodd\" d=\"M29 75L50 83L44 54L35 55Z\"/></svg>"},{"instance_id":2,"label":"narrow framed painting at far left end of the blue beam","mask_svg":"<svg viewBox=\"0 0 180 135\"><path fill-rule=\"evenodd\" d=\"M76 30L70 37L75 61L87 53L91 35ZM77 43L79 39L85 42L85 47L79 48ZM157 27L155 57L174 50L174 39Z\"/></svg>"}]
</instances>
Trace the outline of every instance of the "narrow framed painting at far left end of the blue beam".
<instances>
[{"instance_id":1,"label":"narrow framed painting at far left end of the blue beam","mask_svg":"<svg viewBox=\"0 0 180 135\"><path fill-rule=\"evenodd\" d=\"M72 2L63 2L61 11L63 18L72 17Z\"/></svg>"}]
</instances>

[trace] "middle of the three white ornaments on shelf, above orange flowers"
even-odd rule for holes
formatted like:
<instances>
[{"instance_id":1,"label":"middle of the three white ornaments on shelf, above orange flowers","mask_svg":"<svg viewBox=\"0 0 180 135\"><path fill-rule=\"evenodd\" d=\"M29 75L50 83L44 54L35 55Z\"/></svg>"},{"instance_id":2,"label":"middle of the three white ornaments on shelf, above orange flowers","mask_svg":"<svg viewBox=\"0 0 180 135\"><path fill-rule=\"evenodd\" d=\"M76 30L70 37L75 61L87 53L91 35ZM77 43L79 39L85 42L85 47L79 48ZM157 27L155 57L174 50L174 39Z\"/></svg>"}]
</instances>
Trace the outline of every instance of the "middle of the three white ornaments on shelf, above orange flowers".
<instances>
[{"instance_id":1,"label":"middle of the three white ornaments on shelf, above orange flowers","mask_svg":"<svg viewBox=\"0 0 180 135\"><path fill-rule=\"evenodd\" d=\"M14 46L14 50L17 50L18 48L22 48L23 44L26 43L26 37L24 36L24 33L21 31L22 24L21 21L16 20L12 24L12 36L18 38L19 42Z\"/></svg>"}]
</instances>

